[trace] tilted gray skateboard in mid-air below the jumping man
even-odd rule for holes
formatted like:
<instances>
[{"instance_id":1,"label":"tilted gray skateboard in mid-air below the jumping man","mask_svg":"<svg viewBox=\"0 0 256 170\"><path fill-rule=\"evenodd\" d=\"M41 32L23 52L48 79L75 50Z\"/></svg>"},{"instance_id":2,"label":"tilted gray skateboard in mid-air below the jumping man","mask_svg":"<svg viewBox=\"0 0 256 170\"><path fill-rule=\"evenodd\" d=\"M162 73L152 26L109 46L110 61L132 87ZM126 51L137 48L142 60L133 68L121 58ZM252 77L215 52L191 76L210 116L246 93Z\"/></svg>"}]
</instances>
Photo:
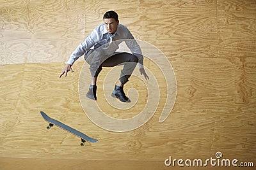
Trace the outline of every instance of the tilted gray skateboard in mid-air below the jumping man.
<instances>
[{"instance_id":1,"label":"tilted gray skateboard in mid-air below the jumping man","mask_svg":"<svg viewBox=\"0 0 256 170\"><path fill-rule=\"evenodd\" d=\"M86 141L88 141L90 143L97 143L98 142L97 139L90 138L86 134L83 134L82 132L79 132L76 129L73 129L72 127L69 127L68 125L65 125L65 124L61 123L58 120L55 120L55 119L47 116L46 113L44 113L44 111L40 111L40 114L42 115L42 117L44 118L44 120L46 122L49 122L49 125L47 126L48 130L51 129L51 127L53 125L56 125L56 126L60 127L61 129L65 130L65 131L68 131L68 132L74 134L75 136L81 138L81 143L80 143L81 146L84 146L84 143Z\"/></svg>"}]
</instances>

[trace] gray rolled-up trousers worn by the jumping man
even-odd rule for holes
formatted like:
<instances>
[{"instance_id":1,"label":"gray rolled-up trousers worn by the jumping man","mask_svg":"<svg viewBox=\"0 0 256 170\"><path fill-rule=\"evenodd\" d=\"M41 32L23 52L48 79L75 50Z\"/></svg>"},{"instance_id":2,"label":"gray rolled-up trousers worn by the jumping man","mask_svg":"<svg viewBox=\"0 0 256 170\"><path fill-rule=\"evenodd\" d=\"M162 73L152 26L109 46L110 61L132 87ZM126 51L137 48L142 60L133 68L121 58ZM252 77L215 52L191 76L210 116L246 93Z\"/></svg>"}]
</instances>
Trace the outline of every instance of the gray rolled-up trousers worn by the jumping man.
<instances>
[{"instance_id":1,"label":"gray rolled-up trousers worn by the jumping man","mask_svg":"<svg viewBox=\"0 0 256 170\"><path fill-rule=\"evenodd\" d=\"M84 60L90 64L90 73L92 77L97 77L102 70L102 67L124 65L119 78L120 82L124 85L129 81L128 79L138 62L138 57L126 52L114 53L113 55L108 56L104 50L92 49L85 53Z\"/></svg>"}]
</instances>

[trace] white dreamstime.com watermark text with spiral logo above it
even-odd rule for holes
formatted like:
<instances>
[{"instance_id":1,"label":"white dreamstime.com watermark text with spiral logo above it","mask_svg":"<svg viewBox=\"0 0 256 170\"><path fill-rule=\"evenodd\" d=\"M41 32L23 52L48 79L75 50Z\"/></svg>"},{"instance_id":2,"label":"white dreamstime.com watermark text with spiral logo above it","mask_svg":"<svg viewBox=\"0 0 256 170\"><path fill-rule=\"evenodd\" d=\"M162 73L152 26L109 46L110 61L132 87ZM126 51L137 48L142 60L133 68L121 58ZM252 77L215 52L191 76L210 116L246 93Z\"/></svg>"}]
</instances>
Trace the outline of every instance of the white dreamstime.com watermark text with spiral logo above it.
<instances>
[{"instance_id":1,"label":"white dreamstime.com watermark text with spiral logo above it","mask_svg":"<svg viewBox=\"0 0 256 170\"><path fill-rule=\"evenodd\" d=\"M180 167L206 167L206 166L218 166L218 167L253 167L253 162L239 162L237 159L222 159L221 152L216 152L214 158L210 159L172 159L170 156L164 160L164 165L168 167L180 166Z\"/></svg>"}]
</instances>

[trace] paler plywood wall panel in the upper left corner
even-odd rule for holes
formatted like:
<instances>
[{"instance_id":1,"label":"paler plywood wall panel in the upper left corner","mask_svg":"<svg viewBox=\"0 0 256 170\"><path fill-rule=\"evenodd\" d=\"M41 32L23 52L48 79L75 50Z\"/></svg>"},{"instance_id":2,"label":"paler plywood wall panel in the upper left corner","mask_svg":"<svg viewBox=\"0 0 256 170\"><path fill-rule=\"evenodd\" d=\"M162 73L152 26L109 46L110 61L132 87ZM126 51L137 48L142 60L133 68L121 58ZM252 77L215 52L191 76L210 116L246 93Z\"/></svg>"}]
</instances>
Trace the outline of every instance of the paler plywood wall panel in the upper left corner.
<instances>
[{"instance_id":1,"label":"paler plywood wall panel in the upper left corner","mask_svg":"<svg viewBox=\"0 0 256 170\"><path fill-rule=\"evenodd\" d=\"M83 10L84 1L2 2L1 64L66 60L84 38Z\"/></svg>"}]
</instances>

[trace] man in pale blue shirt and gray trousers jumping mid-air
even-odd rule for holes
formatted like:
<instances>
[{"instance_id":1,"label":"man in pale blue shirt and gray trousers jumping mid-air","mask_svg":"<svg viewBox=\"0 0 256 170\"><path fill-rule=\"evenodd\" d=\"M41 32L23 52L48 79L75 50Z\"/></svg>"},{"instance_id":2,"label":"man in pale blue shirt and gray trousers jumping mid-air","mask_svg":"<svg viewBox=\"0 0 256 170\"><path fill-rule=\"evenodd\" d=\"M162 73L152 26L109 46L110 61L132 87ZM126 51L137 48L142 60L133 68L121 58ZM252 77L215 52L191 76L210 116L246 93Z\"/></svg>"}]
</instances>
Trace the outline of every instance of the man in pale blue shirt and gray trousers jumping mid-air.
<instances>
[{"instance_id":1,"label":"man in pale blue shirt and gray trousers jumping mid-air","mask_svg":"<svg viewBox=\"0 0 256 170\"><path fill-rule=\"evenodd\" d=\"M113 67L118 65L124 65L119 80L115 84L111 96L118 98L122 102L131 102L130 99L125 96L124 85L127 83L132 71L139 64L140 73L148 80L148 75L143 68L143 55L141 54L141 48L132 36L127 27L119 24L118 14L115 11L108 11L105 13L104 24L96 27L93 32L86 37L76 50L72 52L66 66L63 68L60 74L67 76L68 71L73 72L72 65L74 62L84 55L84 59L90 64L90 73L92 76L92 82L86 97L97 100L97 76L99 75L102 67ZM118 45L124 41L132 53L116 52Z\"/></svg>"}]
</instances>

